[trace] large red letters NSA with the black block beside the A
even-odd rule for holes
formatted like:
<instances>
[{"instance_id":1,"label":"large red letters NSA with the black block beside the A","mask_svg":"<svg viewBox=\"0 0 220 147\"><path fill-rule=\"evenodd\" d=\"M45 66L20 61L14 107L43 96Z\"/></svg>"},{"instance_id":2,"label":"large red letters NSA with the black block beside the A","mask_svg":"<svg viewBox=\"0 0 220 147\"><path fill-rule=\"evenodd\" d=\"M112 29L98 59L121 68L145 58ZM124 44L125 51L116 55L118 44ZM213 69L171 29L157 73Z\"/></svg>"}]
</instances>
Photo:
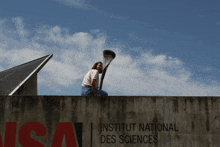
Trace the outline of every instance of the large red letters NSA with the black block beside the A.
<instances>
[{"instance_id":1,"label":"large red letters NSA with the black block beside the A","mask_svg":"<svg viewBox=\"0 0 220 147\"><path fill-rule=\"evenodd\" d=\"M76 129L77 127L77 129ZM44 147L44 144L31 138L30 132L35 131L36 136L44 137L46 127L39 122L29 122L21 126L17 132L17 122L6 122L4 144L3 137L0 136L0 147L15 147L16 136L23 147ZM76 132L76 131L77 132ZM17 135L18 134L18 135ZM59 122L53 136L51 147L61 147L65 136L66 147L82 146L82 123Z\"/></svg>"}]
</instances>

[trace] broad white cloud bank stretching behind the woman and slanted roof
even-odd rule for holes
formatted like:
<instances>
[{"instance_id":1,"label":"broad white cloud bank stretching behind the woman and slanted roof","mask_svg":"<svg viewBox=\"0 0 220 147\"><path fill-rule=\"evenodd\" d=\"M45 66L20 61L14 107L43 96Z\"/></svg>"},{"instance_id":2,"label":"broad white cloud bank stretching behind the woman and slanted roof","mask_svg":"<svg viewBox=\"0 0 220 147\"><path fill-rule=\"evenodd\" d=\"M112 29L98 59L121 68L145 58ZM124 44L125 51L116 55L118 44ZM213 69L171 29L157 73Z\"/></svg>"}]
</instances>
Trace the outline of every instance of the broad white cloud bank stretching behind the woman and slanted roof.
<instances>
[{"instance_id":1,"label":"broad white cloud bank stretching behind the woman and slanted roof","mask_svg":"<svg viewBox=\"0 0 220 147\"><path fill-rule=\"evenodd\" d=\"M8 28L8 23L14 23L15 28ZM193 80L179 59L150 51L134 57L129 51L122 52L123 45L109 46L99 30L70 34L59 26L43 26L30 32L21 18L14 18L0 21L0 40L1 70L54 54L38 80L39 87L56 89L57 95L59 89L80 87L92 65L102 60L106 48L116 53L103 83L110 95L220 95L219 83L205 85Z\"/></svg>"}]
</instances>

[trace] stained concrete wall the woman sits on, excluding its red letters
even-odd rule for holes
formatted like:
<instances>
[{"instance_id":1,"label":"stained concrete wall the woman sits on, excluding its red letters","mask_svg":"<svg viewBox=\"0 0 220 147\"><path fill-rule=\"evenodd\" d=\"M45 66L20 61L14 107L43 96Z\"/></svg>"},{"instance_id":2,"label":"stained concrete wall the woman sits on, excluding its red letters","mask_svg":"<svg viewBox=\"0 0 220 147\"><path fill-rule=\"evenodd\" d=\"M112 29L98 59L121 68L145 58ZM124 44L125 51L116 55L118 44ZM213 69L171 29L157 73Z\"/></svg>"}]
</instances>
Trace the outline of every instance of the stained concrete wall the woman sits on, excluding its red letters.
<instances>
[{"instance_id":1,"label":"stained concrete wall the woman sits on, excluding its red letters","mask_svg":"<svg viewBox=\"0 0 220 147\"><path fill-rule=\"evenodd\" d=\"M220 97L2 96L0 112L2 138L6 122L17 122L16 147L29 122L45 126L46 135L30 133L45 147L58 122L82 123L83 147L220 146Z\"/></svg>"}]
</instances>

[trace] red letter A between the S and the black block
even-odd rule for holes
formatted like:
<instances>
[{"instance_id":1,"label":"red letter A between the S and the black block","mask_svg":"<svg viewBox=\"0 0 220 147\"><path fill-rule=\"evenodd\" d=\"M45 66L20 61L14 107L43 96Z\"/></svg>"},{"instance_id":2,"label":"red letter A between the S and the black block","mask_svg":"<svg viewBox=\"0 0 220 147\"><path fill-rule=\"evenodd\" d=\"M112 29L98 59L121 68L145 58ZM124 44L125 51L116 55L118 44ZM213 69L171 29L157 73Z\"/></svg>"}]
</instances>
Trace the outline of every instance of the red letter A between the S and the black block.
<instances>
[{"instance_id":1,"label":"red letter A between the S and the black block","mask_svg":"<svg viewBox=\"0 0 220 147\"><path fill-rule=\"evenodd\" d=\"M57 124L51 147L61 147L64 135L66 147L77 147L73 125L72 123L67 122L61 122Z\"/></svg>"}]
</instances>

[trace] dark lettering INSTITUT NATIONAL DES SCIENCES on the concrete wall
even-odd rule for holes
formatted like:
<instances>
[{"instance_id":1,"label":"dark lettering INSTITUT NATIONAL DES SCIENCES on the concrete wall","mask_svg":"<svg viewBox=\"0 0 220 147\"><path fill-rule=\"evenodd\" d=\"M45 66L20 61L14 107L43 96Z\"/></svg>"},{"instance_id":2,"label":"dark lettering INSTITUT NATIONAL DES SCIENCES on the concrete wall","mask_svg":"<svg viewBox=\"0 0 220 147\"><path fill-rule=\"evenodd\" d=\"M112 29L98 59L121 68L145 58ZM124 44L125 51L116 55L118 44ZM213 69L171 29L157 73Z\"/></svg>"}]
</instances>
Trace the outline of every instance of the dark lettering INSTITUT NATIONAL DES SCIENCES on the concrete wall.
<instances>
[{"instance_id":1,"label":"dark lettering INSTITUT NATIONAL DES SCIENCES on the concrete wall","mask_svg":"<svg viewBox=\"0 0 220 147\"><path fill-rule=\"evenodd\" d=\"M158 135L150 132L178 131L175 123L109 123L100 124L100 129L107 134L119 132L101 135L101 144L157 144Z\"/></svg>"}]
</instances>

